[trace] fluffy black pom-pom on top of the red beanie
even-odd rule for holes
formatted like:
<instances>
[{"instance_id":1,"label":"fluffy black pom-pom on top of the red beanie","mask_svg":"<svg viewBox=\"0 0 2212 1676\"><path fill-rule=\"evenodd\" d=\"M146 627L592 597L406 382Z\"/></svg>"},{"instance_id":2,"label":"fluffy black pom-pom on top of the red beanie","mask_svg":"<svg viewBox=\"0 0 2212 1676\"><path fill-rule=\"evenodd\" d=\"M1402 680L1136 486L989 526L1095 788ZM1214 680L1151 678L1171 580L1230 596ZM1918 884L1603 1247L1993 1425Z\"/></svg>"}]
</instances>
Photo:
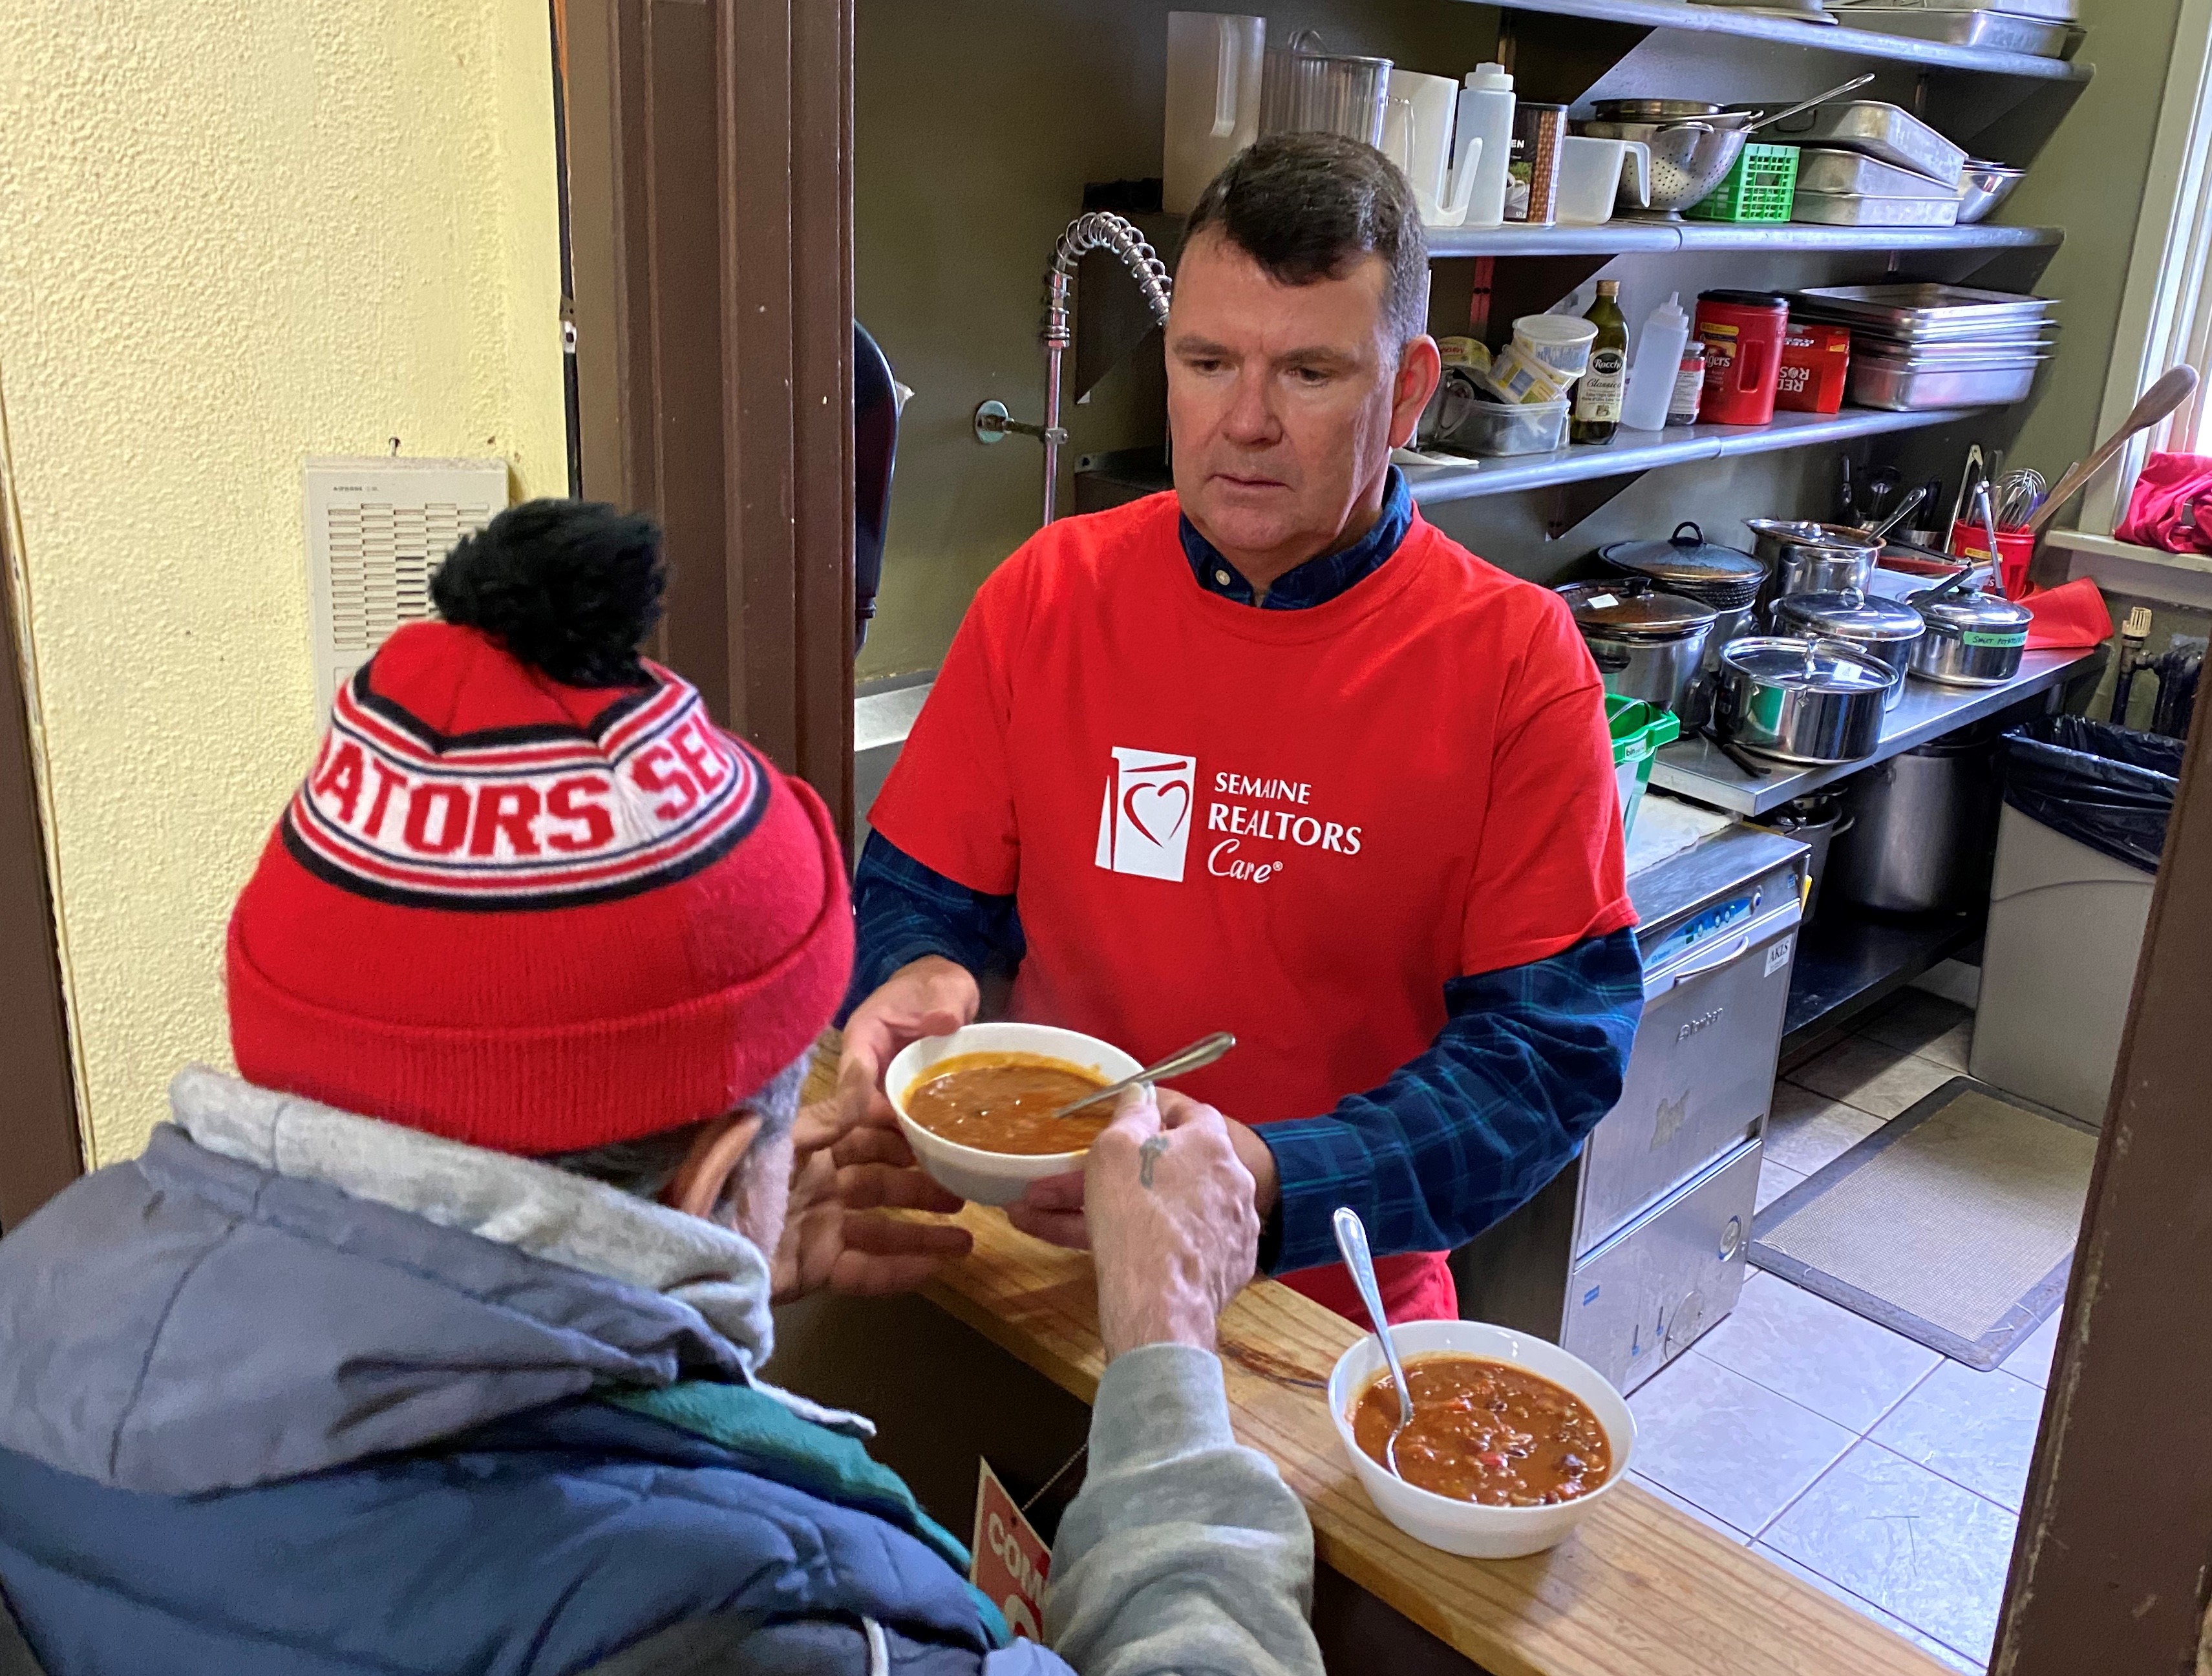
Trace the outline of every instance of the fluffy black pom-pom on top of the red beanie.
<instances>
[{"instance_id":1,"label":"fluffy black pom-pom on top of the red beanie","mask_svg":"<svg viewBox=\"0 0 2212 1676\"><path fill-rule=\"evenodd\" d=\"M526 500L453 544L429 582L449 624L571 688L637 685L659 621L661 526L591 500Z\"/></svg>"}]
</instances>

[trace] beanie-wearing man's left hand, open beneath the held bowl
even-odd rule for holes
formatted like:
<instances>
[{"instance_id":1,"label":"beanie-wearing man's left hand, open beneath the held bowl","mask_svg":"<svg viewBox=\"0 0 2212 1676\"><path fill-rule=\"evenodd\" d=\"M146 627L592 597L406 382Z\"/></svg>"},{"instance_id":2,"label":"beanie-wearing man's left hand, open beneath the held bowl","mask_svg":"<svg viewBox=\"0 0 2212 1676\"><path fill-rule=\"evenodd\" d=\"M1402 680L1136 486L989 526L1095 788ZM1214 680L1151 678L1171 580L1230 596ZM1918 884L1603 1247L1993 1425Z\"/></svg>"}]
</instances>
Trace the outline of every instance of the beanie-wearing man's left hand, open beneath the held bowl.
<instances>
[{"instance_id":1,"label":"beanie-wearing man's left hand, open beneath the held bowl","mask_svg":"<svg viewBox=\"0 0 2212 1676\"><path fill-rule=\"evenodd\" d=\"M863 1145L852 1145L854 1139ZM880 1134L880 1132L878 1132ZM951 1258L969 1254L973 1238L953 1223L918 1223L874 1214L885 1207L960 1209L960 1198L905 1161L867 1156L867 1132L856 1132L838 1101L803 1106L792 1125L792 1185L776 1243L774 1300L790 1302L830 1287L852 1298L914 1291ZM900 1141L898 1132L889 1134ZM843 1152L858 1161L845 1163Z\"/></svg>"}]
</instances>

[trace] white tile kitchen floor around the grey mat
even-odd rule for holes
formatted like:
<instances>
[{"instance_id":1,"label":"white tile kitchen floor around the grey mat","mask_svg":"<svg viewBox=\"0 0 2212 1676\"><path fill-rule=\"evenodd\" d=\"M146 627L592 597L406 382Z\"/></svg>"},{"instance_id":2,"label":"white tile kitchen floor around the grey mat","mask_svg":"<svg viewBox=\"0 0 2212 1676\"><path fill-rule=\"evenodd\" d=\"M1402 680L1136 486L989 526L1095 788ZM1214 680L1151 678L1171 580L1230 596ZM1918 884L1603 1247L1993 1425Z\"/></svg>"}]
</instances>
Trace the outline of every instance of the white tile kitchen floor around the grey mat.
<instances>
[{"instance_id":1,"label":"white tile kitchen floor around the grey mat","mask_svg":"<svg viewBox=\"0 0 2212 1676\"><path fill-rule=\"evenodd\" d=\"M1765 1205L1966 1066L1971 1015L1909 991L1774 1090ZM2057 1347L1991 1373L1772 1274L1641 1386L1635 1477L1960 1672L1997 1630Z\"/></svg>"}]
</instances>

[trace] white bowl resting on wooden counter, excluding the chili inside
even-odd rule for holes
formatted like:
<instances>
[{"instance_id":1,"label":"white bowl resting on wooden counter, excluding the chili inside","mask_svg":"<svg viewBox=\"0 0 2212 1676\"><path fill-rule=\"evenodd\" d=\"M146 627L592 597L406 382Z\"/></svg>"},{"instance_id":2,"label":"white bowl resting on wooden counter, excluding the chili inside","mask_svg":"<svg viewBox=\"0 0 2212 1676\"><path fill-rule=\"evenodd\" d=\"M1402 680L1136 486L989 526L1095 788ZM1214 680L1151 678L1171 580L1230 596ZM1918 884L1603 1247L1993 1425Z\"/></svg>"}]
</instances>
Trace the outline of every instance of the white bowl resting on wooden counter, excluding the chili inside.
<instances>
[{"instance_id":1,"label":"white bowl resting on wooden counter, excluding the chili inside","mask_svg":"<svg viewBox=\"0 0 2212 1676\"><path fill-rule=\"evenodd\" d=\"M1542 1338L1480 1320L1409 1320L1391 1327L1391 1340L1398 1344L1400 1360L1458 1351L1506 1362L1562 1384L1590 1406L1613 1446L1613 1470L1606 1481L1573 1501L1542 1508L1486 1508L1478 1501L1418 1490L1383 1464L1367 1459L1367 1450L1352 1437L1352 1408L1367 1382L1383 1371L1383 1347L1376 1344L1374 1333L1367 1333L1336 1358L1336 1369L1329 1373L1329 1420L1336 1422L1336 1435L1345 1444L1345 1455L1352 1457L1352 1470L1358 1473L1367 1499L1413 1541L1473 1559L1537 1554L1566 1541L1590 1508L1613 1495L1615 1486L1628 1477L1637 1448L1637 1422L1628 1413L1628 1404L1621 1402L1621 1393L1579 1355L1546 1344Z\"/></svg>"}]
</instances>

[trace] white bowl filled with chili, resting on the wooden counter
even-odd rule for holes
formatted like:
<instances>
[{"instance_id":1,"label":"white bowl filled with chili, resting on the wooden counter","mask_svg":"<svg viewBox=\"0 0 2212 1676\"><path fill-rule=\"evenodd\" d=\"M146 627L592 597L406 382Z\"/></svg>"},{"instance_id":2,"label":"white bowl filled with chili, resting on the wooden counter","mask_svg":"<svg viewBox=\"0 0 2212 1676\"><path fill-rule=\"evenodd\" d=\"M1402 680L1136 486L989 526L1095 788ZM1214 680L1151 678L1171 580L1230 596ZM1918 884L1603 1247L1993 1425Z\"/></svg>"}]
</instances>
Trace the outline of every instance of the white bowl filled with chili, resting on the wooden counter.
<instances>
[{"instance_id":1,"label":"white bowl filled with chili, resting on the wooden counter","mask_svg":"<svg viewBox=\"0 0 2212 1676\"><path fill-rule=\"evenodd\" d=\"M1378 1402L1387 1402L1389 1424L1380 1424L1383 1437L1389 1435L1398 1413L1396 1395L1378 1389L1378 1382L1387 1382L1389 1371L1383 1364L1383 1347L1376 1344L1374 1333L1367 1333L1336 1360L1336 1371L1329 1373L1329 1417L1336 1422L1336 1435L1345 1442L1345 1455L1352 1457L1352 1470L1358 1473L1367 1499L1407 1537L1442 1548L1447 1554L1473 1559L1535 1554L1566 1541L1590 1508L1628 1477L1637 1422L1630 1417L1628 1404L1621 1402L1621 1393L1579 1355L1542 1338L1480 1320L1411 1320L1394 1327L1391 1340L1407 1364L1405 1378L1413 1386L1416 1411L1413 1428L1398 1439L1400 1473L1433 1481L1460 1477L1462 1484L1482 1495L1528 1497L1544 1488L1582 1486L1568 1499L1498 1506L1462 1495L1440 1495L1391 1473L1360 1446L1354 1422L1360 1400L1369 1391L1376 1393ZM1460 1364L1473 1364L1471 1375L1480 1375L1482 1364L1498 1366L1498 1389L1478 1393L1469 1406L1451 1408L1444 1402L1444 1386L1464 1384L1458 1378ZM1422 1371L1425 1366L1429 1373ZM1442 1371L1451 1371L1451 1378L1431 1382L1431 1375ZM1425 1395L1433 1400L1433 1420L1429 1422L1422 1420ZM1506 1397L1509 1406L1504 1411L1484 1406L1489 1395ZM1559 1397L1573 1402L1559 1402ZM1595 1466L1588 1446L1593 1442L1590 1422L1604 1435L1606 1450L1604 1477L1597 1481L1590 1481ZM1504 1426L1504 1431L1484 1431L1491 1426ZM1376 1426L1369 1424L1371 1435L1374 1431ZM1568 1459L1582 1468L1579 1479L1562 1466ZM1551 1486L1551 1479L1562 1481Z\"/></svg>"}]
</instances>

